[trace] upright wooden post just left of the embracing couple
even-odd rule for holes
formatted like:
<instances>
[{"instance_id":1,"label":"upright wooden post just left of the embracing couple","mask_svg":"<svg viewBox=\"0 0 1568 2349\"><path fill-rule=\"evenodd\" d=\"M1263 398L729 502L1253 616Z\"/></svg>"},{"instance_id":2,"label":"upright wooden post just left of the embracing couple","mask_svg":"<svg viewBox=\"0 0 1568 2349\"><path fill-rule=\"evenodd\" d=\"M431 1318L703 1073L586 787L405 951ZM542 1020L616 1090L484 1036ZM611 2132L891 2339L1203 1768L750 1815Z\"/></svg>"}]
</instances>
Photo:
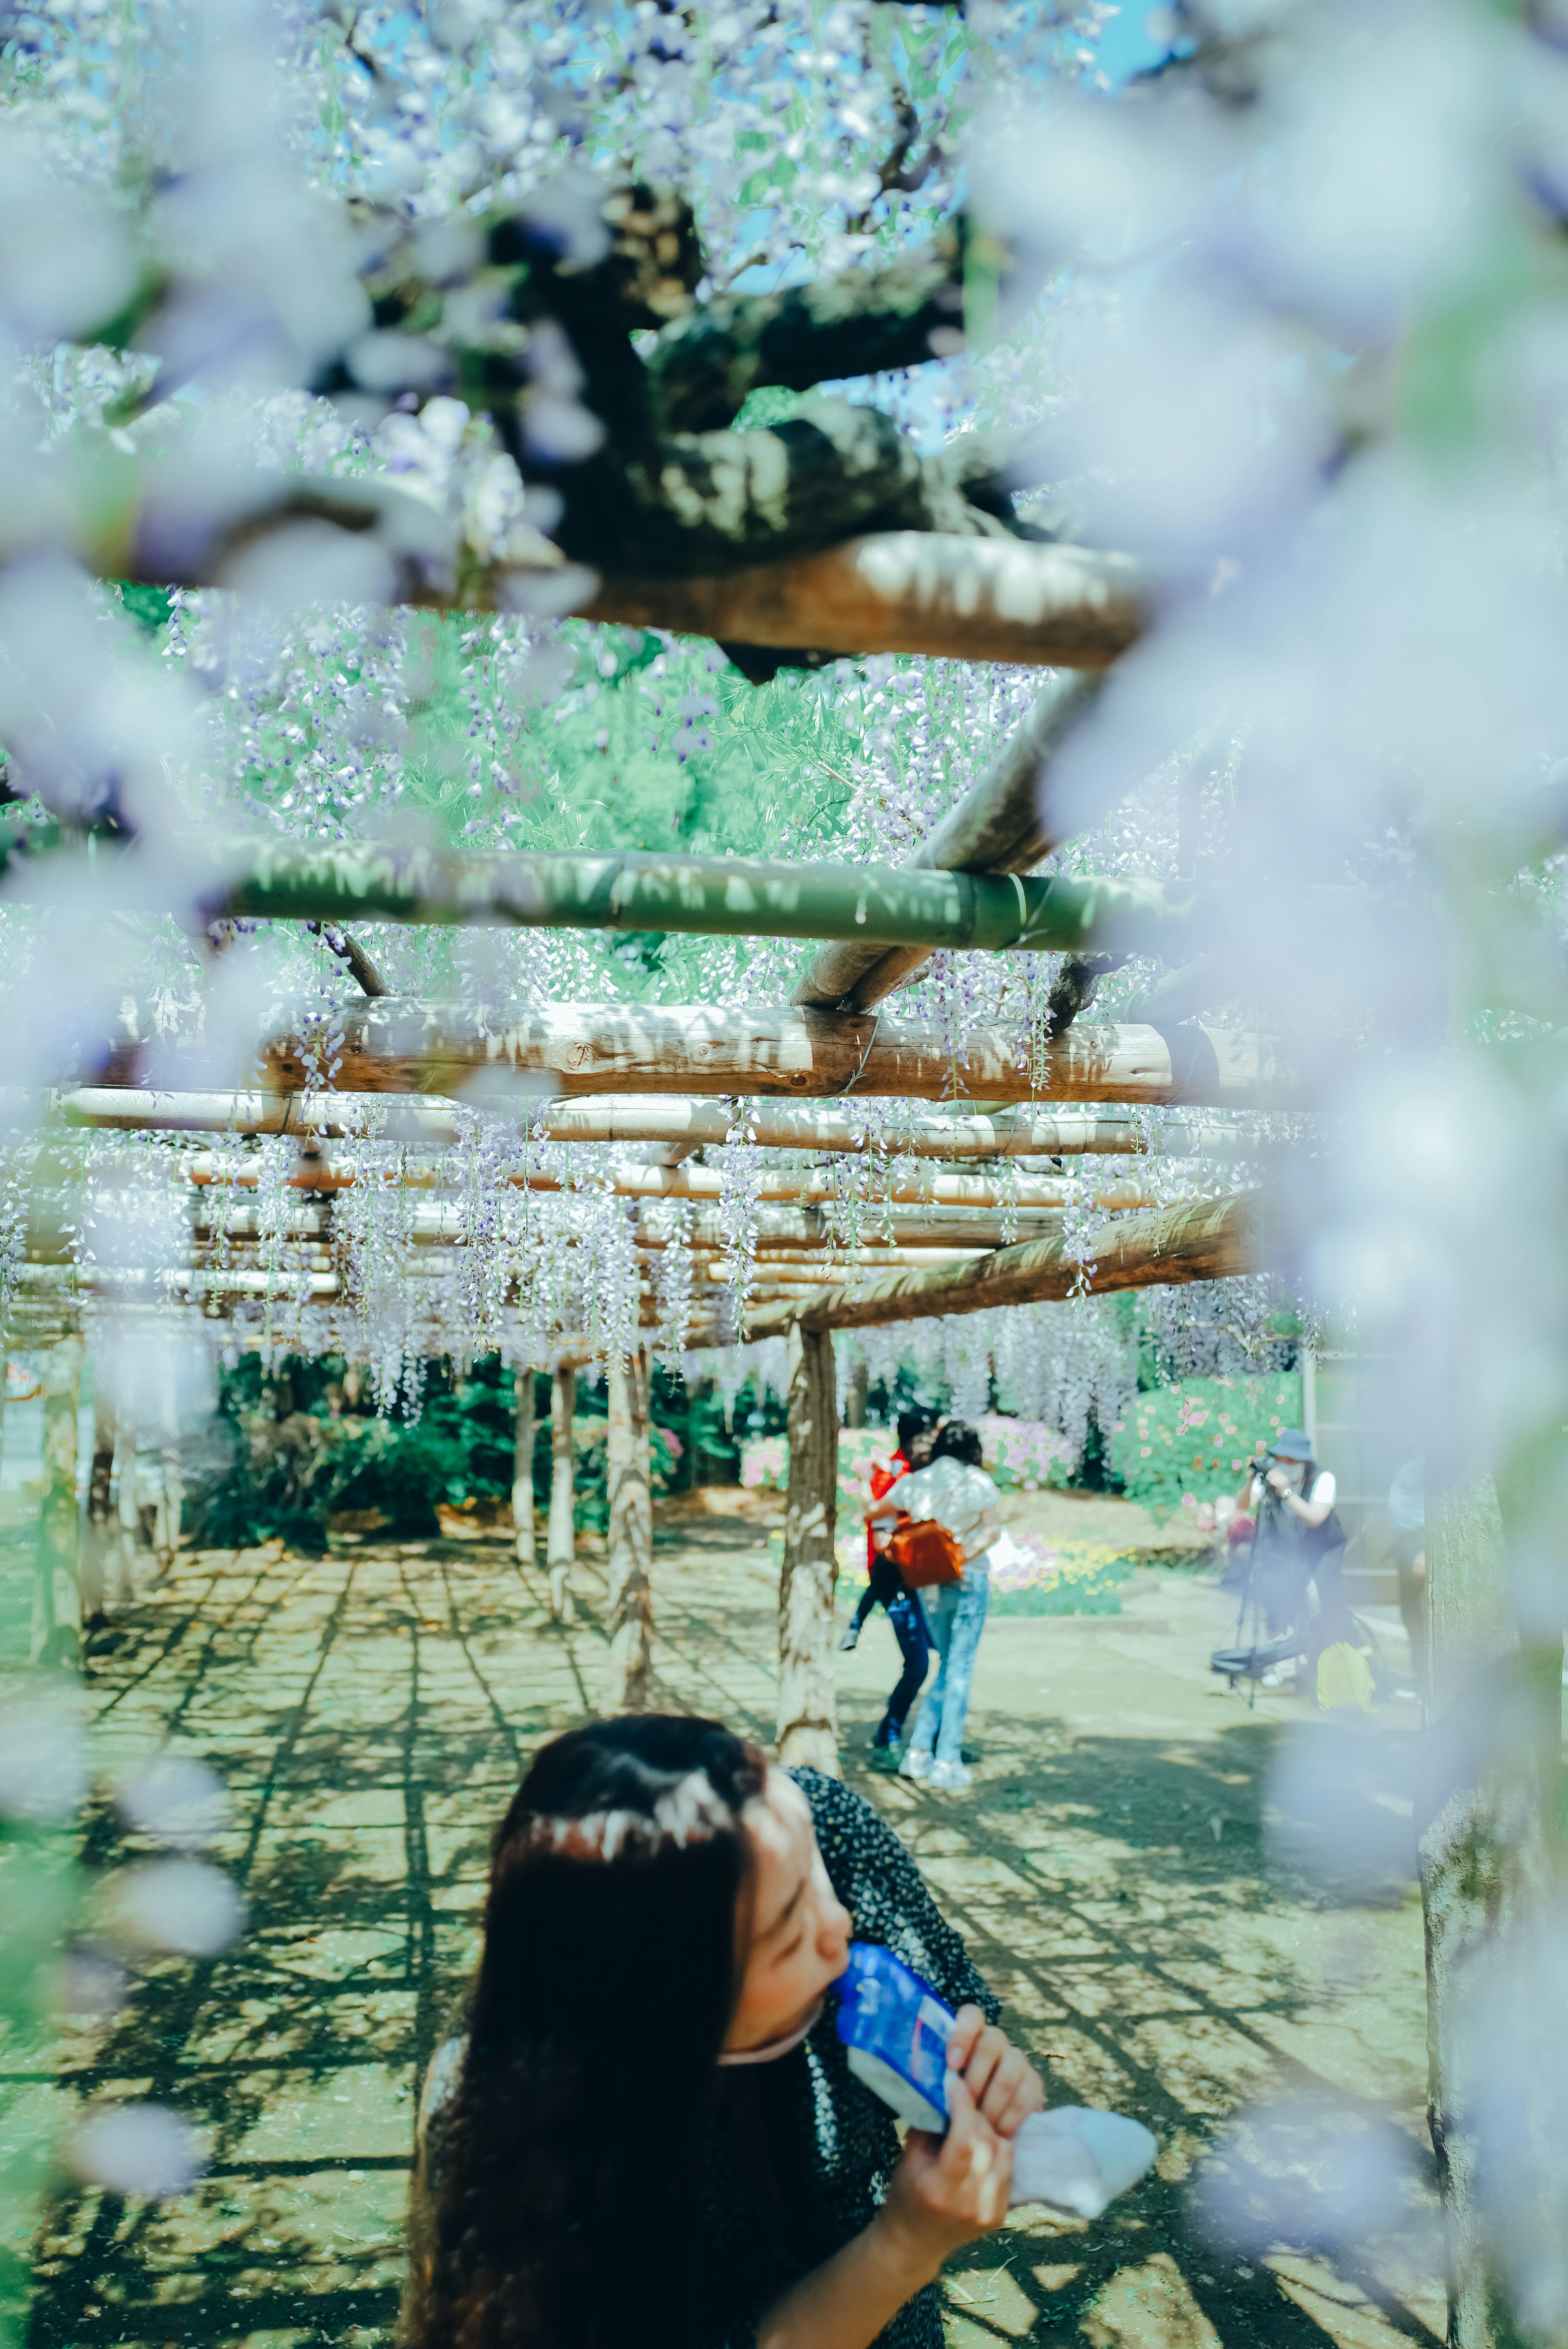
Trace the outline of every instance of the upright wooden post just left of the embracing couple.
<instances>
[{"instance_id":1,"label":"upright wooden post just left of the embracing couple","mask_svg":"<svg viewBox=\"0 0 1568 2349\"><path fill-rule=\"evenodd\" d=\"M839 1496L839 1405L832 1337L790 1330L790 1492L778 1583L778 1759L839 1776L832 1680L832 1527Z\"/></svg>"}]
</instances>

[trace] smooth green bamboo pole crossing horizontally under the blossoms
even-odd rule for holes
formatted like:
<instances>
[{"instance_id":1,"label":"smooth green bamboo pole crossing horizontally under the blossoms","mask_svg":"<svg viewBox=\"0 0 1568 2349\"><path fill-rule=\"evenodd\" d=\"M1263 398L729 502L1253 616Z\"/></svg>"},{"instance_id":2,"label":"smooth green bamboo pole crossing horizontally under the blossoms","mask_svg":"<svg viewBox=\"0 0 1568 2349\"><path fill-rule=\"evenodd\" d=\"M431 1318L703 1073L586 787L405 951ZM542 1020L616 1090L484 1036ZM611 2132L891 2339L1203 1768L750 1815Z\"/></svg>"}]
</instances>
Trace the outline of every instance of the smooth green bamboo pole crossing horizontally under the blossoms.
<instances>
[{"instance_id":1,"label":"smooth green bamboo pole crossing horizontally under the blossoms","mask_svg":"<svg viewBox=\"0 0 1568 2349\"><path fill-rule=\"evenodd\" d=\"M54 900L61 862L31 827L7 897ZM96 843L101 846L101 843ZM1030 846L1030 843L1025 843ZM209 921L409 921L543 930L677 930L701 937L832 937L856 947L1070 951L1107 947L1185 961L1201 942L1194 883L1046 879L914 864L675 857L642 850L458 855L402 843L301 846L190 834L148 867L134 848L92 860L99 895L122 879L139 909Z\"/></svg>"}]
</instances>

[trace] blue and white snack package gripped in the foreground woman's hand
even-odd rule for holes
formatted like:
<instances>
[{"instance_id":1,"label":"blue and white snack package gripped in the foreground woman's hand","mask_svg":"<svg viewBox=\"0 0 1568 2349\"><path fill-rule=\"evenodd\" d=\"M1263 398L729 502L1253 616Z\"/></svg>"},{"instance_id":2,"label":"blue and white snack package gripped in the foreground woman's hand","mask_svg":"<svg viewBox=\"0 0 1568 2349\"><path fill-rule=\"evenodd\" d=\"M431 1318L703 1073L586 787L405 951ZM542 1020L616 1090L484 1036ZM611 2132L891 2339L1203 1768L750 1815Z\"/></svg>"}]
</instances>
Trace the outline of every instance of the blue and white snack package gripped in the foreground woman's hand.
<instances>
[{"instance_id":1,"label":"blue and white snack package gripped in the foreground woman's hand","mask_svg":"<svg viewBox=\"0 0 1568 2349\"><path fill-rule=\"evenodd\" d=\"M947 2039L957 2015L900 1957L867 1940L851 1940L837 1992L849 2069L903 2121L940 2135L947 2128ZM1086 2112L1081 2105L1032 2112L1013 2133L1013 2206L1039 2201L1098 2217L1145 2175L1157 2152L1143 2121L1124 2112Z\"/></svg>"}]
</instances>

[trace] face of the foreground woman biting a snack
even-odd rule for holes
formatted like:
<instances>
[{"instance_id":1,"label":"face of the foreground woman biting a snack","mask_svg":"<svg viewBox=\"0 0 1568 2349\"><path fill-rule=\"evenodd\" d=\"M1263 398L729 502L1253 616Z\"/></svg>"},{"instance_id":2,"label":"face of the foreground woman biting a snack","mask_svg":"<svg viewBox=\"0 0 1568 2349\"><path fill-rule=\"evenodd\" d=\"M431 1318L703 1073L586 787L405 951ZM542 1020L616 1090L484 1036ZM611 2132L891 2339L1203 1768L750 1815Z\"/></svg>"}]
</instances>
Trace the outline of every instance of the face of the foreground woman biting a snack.
<instances>
[{"instance_id":1,"label":"face of the foreground woman biting a snack","mask_svg":"<svg viewBox=\"0 0 1568 2349\"><path fill-rule=\"evenodd\" d=\"M741 1999L726 2048L788 2039L849 1964L853 1919L823 1867L811 1804L771 1769L743 1813L752 1839L752 1917Z\"/></svg>"}]
</instances>

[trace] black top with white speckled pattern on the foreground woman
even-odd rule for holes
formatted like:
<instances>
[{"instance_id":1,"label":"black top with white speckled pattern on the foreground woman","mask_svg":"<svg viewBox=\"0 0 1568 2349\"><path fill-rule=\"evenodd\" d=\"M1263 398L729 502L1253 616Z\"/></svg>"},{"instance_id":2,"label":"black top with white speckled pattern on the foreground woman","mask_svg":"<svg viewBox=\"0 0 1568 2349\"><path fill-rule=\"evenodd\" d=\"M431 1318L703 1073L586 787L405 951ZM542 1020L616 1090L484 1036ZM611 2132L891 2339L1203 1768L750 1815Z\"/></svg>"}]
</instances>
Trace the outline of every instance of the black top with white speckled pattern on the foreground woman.
<instances>
[{"instance_id":1,"label":"black top with white speckled pattern on the foreground woman","mask_svg":"<svg viewBox=\"0 0 1568 2349\"><path fill-rule=\"evenodd\" d=\"M832 1889L856 1921L856 1940L893 1950L936 1990L947 2006L980 2006L990 2022L1001 2006L969 1961L961 1938L936 1910L926 1884L879 1811L816 1769L790 1771L816 1820L816 1839ZM463 2008L435 2053L423 2095L421 2131L456 2084L463 2060ZM849 2069L837 2032L832 1992L820 2020L799 2048L771 2065L726 2072L729 2081L759 2084L769 2133L780 2128L804 2149L806 2173L818 2192L813 2234L769 2227L759 2210L757 2182L748 2175L733 2121L722 2112L703 2180L701 2279L703 2328L693 2349L755 2349L757 2321L802 2274L849 2243L877 2213L898 2163L898 2135L889 2107ZM752 2093L748 2088L738 2095ZM433 2152L433 2147L425 2147ZM421 2196L435 2189L428 2161L416 2168L418 2232ZM943 2349L943 2314L936 2286L905 2302L877 2337L877 2349Z\"/></svg>"}]
</instances>

